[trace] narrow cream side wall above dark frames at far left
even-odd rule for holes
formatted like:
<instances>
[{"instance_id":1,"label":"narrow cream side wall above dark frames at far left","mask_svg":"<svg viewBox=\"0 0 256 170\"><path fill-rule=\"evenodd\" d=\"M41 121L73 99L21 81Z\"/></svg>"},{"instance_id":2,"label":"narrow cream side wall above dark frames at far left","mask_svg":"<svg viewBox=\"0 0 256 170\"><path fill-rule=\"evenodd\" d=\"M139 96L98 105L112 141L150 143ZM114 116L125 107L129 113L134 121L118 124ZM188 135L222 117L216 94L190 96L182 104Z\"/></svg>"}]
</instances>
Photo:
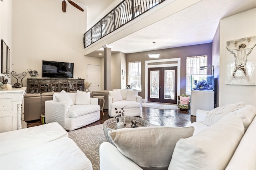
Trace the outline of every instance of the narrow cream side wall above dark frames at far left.
<instances>
[{"instance_id":1,"label":"narrow cream side wall above dark frames at far left","mask_svg":"<svg viewBox=\"0 0 256 170\"><path fill-rule=\"evenodd\" d=\"M12 0L0 1L0 40L4 40L12 50ZM12 58L12 52L10 58ZM0 74L2 75L4 74Z\"/></svg>"}]
</instances>

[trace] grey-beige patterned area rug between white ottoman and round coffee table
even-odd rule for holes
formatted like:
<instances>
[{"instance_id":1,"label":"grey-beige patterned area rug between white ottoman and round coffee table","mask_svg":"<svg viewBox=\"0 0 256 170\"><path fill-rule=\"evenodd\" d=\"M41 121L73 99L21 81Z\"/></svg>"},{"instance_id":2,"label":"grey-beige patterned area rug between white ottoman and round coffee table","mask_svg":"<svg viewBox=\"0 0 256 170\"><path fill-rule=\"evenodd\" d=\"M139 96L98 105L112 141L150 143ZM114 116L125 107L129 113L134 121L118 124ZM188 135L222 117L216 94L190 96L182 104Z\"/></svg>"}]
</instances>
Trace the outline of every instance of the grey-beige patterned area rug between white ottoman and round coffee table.
<instances>
[{"instance_id":1,"label":"grey-beige patterned area rug between white ottoman and round coffee table","mask_svg":"<svg viewBox=\"0 0 256 170\"><path fill-rule=\"evenodd\" d=\"M107 141L103 132L103 124L70 131L68 136L92 162L93 170L100 170L100 144Z\"/></svg>"}]
</instances>

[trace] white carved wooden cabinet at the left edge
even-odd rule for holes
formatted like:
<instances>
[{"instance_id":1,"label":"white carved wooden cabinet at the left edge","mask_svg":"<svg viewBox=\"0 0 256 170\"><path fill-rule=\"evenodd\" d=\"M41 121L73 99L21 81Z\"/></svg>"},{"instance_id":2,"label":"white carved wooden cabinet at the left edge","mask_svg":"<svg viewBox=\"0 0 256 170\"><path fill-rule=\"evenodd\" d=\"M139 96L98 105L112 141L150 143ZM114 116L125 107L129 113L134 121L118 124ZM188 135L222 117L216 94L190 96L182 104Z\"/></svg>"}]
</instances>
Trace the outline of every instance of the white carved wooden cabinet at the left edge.
<instances>
[{"instance_id":1,"label":"white carved wooden cabinet at the left edge","mask_svg":"<svg viewBox=\"0 0 256 170\"><path fill-rule=\"evenodd\" d=\"M26 128L23 101L26 87L0 91L0 132Z\"/></svg>"}]
</instances>

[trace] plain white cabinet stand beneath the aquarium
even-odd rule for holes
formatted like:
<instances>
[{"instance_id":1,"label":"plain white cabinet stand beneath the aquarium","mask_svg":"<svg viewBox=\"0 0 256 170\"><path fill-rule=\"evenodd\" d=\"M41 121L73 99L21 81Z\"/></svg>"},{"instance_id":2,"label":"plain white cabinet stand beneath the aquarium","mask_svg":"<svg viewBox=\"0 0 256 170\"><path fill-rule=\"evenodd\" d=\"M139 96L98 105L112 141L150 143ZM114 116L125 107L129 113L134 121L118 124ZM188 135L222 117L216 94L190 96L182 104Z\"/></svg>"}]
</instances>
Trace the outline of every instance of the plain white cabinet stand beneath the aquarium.
<instances>
[{"instance_id":1,"label":"plain white cabinet stand beneath the aquarium","mask_svg":"<svg viewBox=\"0 0 256 170\"><path fill-rule=\"evenodd\" d=\"M196 110L210 111L214 109L214 91L191 91L191 115L196 116Z\"/></svg>"}]
</instances>

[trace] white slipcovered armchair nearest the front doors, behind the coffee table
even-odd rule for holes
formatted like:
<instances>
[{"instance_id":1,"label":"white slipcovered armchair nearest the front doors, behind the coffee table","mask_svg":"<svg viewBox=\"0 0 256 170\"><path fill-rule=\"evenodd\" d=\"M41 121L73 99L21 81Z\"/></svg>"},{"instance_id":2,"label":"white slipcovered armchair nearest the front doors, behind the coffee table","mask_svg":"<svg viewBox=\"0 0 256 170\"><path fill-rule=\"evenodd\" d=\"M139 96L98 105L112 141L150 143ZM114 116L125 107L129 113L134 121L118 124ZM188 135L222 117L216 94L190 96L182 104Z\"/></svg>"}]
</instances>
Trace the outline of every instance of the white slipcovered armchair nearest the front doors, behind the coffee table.
<instances>
[{"instance_id":1,"label":"white slipcovered armchair nearest the front doors, behind the coffee table","mask_svg":"<svg viewBox=\"0 0 256 170\"><path fill-rule=\"evenodd\" d=\"M131 89L114 89L108 95L108 115L116 117L116 109L124 108L124 116L140 116L142 97Z\"/></svg>"}]
</instances>

